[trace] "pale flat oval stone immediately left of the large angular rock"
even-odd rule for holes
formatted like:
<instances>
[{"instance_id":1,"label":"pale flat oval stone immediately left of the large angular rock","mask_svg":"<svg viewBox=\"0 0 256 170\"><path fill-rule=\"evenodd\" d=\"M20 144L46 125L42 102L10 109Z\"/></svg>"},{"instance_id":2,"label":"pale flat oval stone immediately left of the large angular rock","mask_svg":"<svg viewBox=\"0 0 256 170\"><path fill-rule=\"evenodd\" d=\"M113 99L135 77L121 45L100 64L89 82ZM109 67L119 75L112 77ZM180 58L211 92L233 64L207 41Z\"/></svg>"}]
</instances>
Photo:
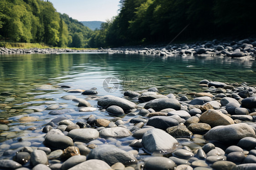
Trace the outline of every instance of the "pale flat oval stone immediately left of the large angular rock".
<instances>
[{"instance_id":1,"label":"pale flat oval stone immediately left of the large angular rock","mask_svg":"<svg viewBox=\"0 0 256 170\"><path fill-rule=\"evenodd\" d=\"M106 128L99 131L102 138L124 138L132 135L131 131L123 127Z\"/></svg>"}]
</instances>

